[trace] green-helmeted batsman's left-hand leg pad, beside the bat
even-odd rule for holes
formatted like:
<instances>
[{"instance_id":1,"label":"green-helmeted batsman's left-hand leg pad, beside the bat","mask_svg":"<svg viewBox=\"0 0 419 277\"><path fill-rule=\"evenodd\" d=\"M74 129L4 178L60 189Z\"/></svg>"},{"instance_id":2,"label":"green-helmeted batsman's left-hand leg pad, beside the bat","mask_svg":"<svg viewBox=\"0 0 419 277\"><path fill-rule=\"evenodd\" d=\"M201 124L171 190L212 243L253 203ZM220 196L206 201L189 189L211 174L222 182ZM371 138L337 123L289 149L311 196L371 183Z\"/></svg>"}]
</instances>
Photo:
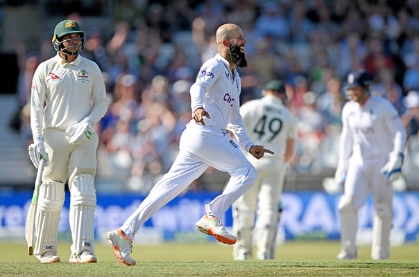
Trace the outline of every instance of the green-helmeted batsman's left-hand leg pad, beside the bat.
<instances>
[{"instance_id":1,"label":"green-helmeted batsman's left-hand leg pad, beside the bat","mask_svg":"<svg viewBox=\"0 0 419 277\"><path fill-rule=\"evenodd\" d=\"M64 184L49 181L41 185L35 215L34 254L37 258L46 251L57 253L58 222L64 199Z\"/></svg>"}]
</instances>

